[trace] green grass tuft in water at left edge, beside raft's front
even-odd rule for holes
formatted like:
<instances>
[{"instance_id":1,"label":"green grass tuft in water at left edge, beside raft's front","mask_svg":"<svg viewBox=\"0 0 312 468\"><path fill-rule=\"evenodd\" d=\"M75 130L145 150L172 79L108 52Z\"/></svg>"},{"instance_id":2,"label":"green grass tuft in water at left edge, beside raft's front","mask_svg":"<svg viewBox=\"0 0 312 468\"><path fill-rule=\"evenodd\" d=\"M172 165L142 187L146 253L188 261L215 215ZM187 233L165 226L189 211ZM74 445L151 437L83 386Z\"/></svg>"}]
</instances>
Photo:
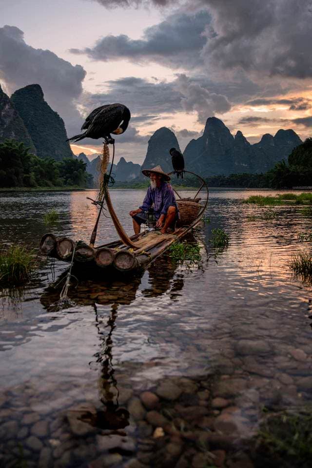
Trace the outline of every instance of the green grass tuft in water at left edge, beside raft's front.
<instances>
[{"instance_id":1,"label":"green grass tuft in water at left edge, beside raft's front","mask_svg":"<svg viewBox=\"0 0 312 468\"><path fill-rule=\"evenodd\" d=\"M0 283L19 284L28 280L35 268L34 251L28 251L20 245L0 251Z\"/></svg>"}]
</instances>

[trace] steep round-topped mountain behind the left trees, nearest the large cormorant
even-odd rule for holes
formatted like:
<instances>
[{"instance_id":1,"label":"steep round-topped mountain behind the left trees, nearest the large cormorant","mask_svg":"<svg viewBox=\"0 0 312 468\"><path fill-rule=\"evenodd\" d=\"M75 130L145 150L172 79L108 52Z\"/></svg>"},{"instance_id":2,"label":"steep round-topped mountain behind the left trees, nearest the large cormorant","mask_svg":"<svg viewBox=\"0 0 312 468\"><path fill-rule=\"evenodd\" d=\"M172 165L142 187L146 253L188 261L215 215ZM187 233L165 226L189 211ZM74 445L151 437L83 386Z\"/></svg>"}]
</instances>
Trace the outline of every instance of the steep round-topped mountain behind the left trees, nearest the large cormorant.
<instances>
[{"instance_id":1,"label":"steep round-topped mountain behind the left trees, nearest the large cormorant","mask_svg":"<svg viewBox=\"0 0 312 468\"><path fill-rule=\"evenodd\" d=\"M57 161L73 157L64 121L44 100L39 84L18 89L11 101L31 136L39 157L53 157Z\"/></svg>"}]
</instances>

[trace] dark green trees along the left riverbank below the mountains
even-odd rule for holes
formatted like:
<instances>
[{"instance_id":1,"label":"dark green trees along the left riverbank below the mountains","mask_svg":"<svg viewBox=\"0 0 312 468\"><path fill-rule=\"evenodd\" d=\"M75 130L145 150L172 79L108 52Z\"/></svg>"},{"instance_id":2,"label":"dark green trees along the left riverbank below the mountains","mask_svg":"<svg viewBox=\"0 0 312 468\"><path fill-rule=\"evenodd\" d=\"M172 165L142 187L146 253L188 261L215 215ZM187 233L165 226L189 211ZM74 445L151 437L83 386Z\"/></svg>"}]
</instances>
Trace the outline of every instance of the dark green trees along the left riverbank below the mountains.
<instances>
[{"instance_id":1,"label":"dark green trees along the left riverbank below the mountains","mask_svg":"<svg viewBox=\"0 0 312 468\"><path fill-rule=\"evenodd\" d=\"M0 187L93 187L86 164L75 158L56 161L31 154L24 143L6 139L0 143Z\"/></svg>"}]
</instances>

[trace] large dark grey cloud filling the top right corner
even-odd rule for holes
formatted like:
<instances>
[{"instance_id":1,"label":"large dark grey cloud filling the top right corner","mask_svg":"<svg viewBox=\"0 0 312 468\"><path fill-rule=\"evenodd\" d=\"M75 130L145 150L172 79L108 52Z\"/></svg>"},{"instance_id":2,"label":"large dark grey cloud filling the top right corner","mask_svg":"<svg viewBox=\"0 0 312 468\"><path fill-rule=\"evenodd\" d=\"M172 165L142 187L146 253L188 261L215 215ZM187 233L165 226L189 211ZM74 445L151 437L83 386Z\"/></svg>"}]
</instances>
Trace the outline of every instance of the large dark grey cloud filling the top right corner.
<instances>
[{"instance_id":1,"label":"large dark grey cloud filling the top right corner","mask_svg":"<svg viewBox=\"0 0 312 468\"><path fill-rule=\"evenodd\" d=\"M221 68L312 77L311 0L202 0L213 16L203 56Z\"/></svg>"}]
</instances>

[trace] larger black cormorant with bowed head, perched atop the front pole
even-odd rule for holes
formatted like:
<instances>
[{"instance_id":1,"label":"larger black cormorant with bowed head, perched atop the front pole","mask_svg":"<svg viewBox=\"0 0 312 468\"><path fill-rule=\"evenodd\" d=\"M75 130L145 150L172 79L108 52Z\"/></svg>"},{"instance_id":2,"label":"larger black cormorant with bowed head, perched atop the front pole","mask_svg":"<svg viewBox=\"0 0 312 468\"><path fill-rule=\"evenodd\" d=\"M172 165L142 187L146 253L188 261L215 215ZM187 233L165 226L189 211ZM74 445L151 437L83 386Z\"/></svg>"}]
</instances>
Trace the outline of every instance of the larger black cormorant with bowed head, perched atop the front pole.
<instances>
[{"instance_id":1,"label":"larger black cormorant with bowed head, perched atop the front pole","mask_svg":"<svg viewBox=\"0 0 312 468\"><path fill-rule=\"evenodd\" d=\"M86 118L81 130L85 132L68 138L66 141L79 141L82 138L104 138L106 143L114 143L114 135L120 135L126 131L131 114L128 107L123 104L107 104L97 107Z\"/></svg>"}]
</instances>

